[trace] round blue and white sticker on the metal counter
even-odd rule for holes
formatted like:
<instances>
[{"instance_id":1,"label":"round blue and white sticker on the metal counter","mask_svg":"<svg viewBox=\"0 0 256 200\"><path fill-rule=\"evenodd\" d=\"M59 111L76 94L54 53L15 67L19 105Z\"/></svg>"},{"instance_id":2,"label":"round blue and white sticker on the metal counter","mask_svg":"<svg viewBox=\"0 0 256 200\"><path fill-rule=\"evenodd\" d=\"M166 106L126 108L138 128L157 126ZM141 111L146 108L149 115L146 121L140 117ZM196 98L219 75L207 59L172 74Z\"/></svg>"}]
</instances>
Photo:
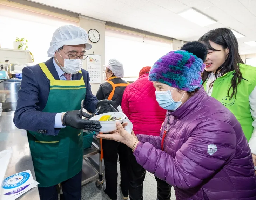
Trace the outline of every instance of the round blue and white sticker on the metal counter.
<instances>
[{"instance_id":1,"label":"round blue and white sticker on the metal counter","mask_svg":"<svg viewBox=\"0 0 256 200\"><path fill-rule=\"evenodd\" d=\"M29 177L30 175L27 172L21 172L21 173L17 173L12 176L9 176L3 181L3 188L13 189L13 188L19 187L20 185L26 183Z\"/></svg>"}]
</instances>

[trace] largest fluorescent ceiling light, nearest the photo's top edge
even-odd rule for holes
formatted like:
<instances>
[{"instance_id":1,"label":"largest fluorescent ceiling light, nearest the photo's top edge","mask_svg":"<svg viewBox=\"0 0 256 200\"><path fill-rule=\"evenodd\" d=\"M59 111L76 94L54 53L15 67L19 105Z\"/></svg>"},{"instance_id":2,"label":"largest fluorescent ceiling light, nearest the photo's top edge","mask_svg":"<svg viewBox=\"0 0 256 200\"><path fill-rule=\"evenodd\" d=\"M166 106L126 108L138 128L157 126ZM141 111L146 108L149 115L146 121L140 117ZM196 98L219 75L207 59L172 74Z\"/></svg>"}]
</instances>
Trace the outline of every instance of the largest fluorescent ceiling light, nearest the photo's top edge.
<instances>
[{"instance_id":1,"label":"largest fluorescent ceiling light, nearest the photo's top edge","mask_svg":"<svg viewBox=\"0 0 256 200\"><path fill-rule=\"evenodd\" d=\"M217 22L217 21L211 19L210 17L203 15L202 13L196 11L193 8L190 8L189 10L185 10L184 12L181 12L178 15L184 17L185 19L187 19L191 22L198 24L199 26L208 26L210 24L214 24Z\"/></svg>"}]
</instances>

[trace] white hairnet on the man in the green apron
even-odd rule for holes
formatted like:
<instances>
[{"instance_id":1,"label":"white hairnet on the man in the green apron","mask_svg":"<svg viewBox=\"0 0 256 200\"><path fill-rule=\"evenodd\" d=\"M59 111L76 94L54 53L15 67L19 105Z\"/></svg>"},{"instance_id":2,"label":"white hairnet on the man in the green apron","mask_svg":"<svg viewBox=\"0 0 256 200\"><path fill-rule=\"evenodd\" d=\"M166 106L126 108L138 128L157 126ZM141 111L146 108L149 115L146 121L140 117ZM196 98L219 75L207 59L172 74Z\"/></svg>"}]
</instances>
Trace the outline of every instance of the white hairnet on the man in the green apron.
<instances>
[{"instance_id":1,"label":"white hairnet on the man in the green apron","mask_svg":"<svg viewBox=\"0 0 256 200\"><path fill-rule=\"evenodd\" d=\"M91 49L92 45L87 43L88 34L85 29L73 25L65 25L54 31L50 48L47 53L49 57L54 57L57 49L63 45L85 44L85 50Z\"/></svg>"}]
</instances>

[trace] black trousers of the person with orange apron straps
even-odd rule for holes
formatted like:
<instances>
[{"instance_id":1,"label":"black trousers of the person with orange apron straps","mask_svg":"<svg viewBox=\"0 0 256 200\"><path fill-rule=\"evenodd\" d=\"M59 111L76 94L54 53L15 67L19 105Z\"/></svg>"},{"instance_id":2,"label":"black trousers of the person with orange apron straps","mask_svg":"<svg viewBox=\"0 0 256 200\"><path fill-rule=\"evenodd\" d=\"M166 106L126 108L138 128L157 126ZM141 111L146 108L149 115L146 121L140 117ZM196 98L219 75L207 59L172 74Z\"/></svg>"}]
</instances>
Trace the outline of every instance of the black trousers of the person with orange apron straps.
<instances>
[{"instance_id":1,"label":"black trousers of the person with orange apron straps","mask_svg":"<svg viewBox=\"0 0 256 200\"><path fill-rule=\"evenodd\" d=\"M121 190L124 195L129 191L129 177L127 171L127 153L129 147L114 140L102 140L106 189L105 193L111 200L117 199L117 159L120 162Z\"/></svg>"}]
</instances>

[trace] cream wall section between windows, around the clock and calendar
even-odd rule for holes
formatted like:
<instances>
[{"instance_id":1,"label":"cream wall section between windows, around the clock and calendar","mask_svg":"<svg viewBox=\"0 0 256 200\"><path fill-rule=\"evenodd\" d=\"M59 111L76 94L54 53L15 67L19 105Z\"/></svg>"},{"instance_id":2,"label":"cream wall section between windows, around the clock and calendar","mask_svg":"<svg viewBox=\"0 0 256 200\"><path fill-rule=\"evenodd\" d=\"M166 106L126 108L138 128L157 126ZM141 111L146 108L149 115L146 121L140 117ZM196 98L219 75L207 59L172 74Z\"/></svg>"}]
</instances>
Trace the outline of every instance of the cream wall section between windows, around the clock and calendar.
<instances>
[{"instance_id":1,"label":"cream wall section between windows, around the clock and calendar","mask_svg":"<svg viewBox=\"0 0 256 200\"><path fill-rule=\"evenodd\" d=\"M93 19L87 19L82 16L80 16L80 22L79 26L83 29L85 29L88 33L90 29L96 29L99 31L100 34L100 40L97 43L92 43L89 41L90 44L92 44L92 49L87 50L86 52L88 54L95 54L95 55L101 55L101 70L104 69L103 65L105 65L105 22L100 22ZM83 68L86 70L86 60L83 62ZM103 78L101 76L101 83L103 82ZM92 86L92 93L96 95L100 84L91 84Z\"/></svg>"}]
</instances>

